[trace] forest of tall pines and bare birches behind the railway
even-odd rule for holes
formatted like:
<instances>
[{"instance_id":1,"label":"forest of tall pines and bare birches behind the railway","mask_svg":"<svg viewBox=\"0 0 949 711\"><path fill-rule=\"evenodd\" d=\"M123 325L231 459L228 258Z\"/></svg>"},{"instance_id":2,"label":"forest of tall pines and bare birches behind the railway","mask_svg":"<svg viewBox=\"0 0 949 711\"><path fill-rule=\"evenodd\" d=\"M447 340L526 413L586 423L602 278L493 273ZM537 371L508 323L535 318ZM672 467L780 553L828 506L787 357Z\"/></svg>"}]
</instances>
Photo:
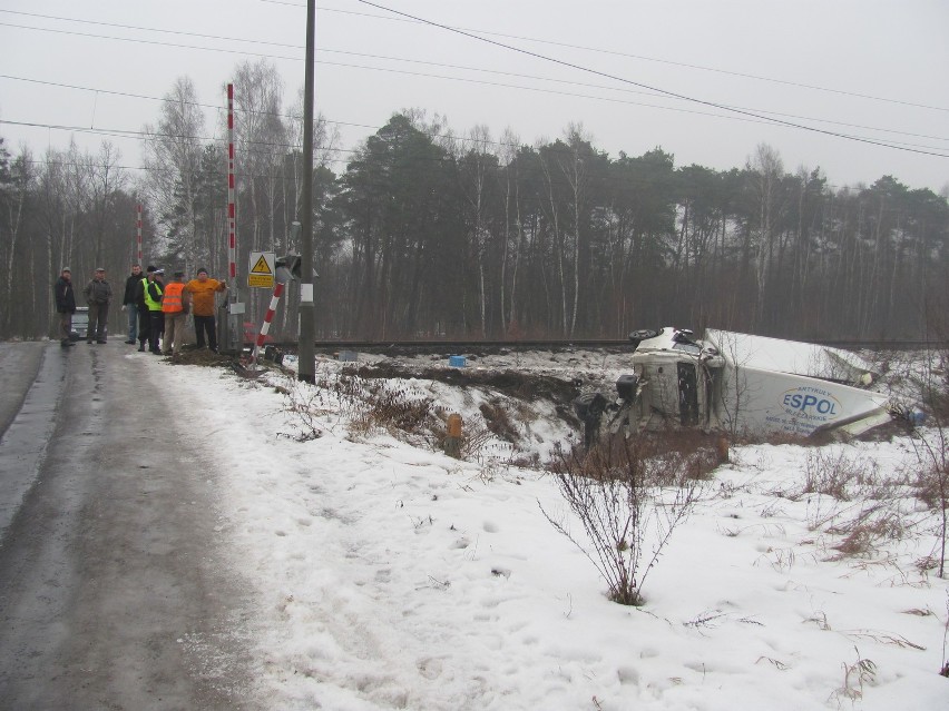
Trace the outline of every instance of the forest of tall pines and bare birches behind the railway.
<instances>
[{"instance_id":1,"label":"forest of tall pines and bare birches behind the railway","mask_svg":"<svg viewBox=\"0 0 949 711\"><path fill-rule=\"evenodd\" d=\"M238 282L252 250L301 249L291 224L301 220L303 111L282 93L266 63L238 67ZM141 168L108 141L45 154L0 142L0 337L55 333L62 266L77 292L104 266L120 293L139 205L144 263L226 276L226 144L206 138L187 78L165 99ZM408 109L345 150L316 119L317 339L624 338L664 325L945 336L946 195L890 175L833 186L819 167L789 170L767 145L715 170L676 165L674 146L609 156L581 124L555 140L515 130L457 132ZM270 293L238 286L258 322ZM296 338L297 299L288 288L271 329L280 340Z\"/></svg>"}]
</instances>

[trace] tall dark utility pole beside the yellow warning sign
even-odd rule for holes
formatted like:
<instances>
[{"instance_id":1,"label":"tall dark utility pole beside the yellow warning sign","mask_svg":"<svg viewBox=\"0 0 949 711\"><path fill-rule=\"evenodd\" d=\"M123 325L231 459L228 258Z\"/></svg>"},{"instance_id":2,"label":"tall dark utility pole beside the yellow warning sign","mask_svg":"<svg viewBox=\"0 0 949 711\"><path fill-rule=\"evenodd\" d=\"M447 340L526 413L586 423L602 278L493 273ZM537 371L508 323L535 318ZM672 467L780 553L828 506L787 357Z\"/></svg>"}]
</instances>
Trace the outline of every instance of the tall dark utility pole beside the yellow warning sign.
<instances>
[{"instance_id":1,"label":"tall dark utility pole beside the yellow warning sign","mask_svg":"<svg viewBox=\"0 0 949 711\"><path fill-rule=\"evenodd\" d=\"M303 215L301 219L300 361L296 377L316 382L316 310L313 305L313 61L316 0L306 0L306 68L303 72Z\"/></svg>"}]
</instances>

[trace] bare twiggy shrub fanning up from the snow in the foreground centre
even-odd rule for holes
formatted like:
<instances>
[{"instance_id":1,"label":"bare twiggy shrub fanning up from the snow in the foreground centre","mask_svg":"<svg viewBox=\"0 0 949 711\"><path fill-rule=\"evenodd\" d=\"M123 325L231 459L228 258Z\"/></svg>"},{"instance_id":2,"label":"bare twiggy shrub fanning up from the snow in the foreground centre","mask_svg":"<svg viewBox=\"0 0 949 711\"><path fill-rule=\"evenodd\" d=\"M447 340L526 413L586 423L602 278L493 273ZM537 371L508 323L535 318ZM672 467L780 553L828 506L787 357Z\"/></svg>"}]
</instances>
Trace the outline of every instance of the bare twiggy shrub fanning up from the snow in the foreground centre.
<instances>
[{"instance_id":1,"label":"bare twiggy shrub fanning up from the snow in the foreground centre","mask_svg":"<svg viewBox=\"0 0 949 711\"><path fill-rule=\"evenodd\" d=\"M586 455L557 448L550 465L560 493L580 520L593 551L566 524L550 524L579 547L604 576L608 596L625 605L643 604L643 585L675 527L685 521L702 484L689 478L681 456L657 455L647 440L617 440ZM652 527L657 537L646 547Z\"/></svg>"}]
</instances>

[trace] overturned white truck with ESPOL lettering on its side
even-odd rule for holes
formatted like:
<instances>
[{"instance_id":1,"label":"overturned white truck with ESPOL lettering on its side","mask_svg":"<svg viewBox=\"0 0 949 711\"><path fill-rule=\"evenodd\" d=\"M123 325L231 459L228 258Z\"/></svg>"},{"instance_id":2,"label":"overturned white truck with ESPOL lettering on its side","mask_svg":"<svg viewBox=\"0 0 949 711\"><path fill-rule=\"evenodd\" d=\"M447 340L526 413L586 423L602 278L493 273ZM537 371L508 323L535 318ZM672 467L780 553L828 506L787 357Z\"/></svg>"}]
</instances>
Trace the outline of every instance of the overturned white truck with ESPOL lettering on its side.
<instances>
[{"instance_id":1,"label":"overturned white truck with ESPOL lettering on its side","mask_svg":"<svg viewBox=\"0 0 949 711\"><path fill-rule=\"evenodd\" d=\"M637 330L616 394L574 403L587 446L606 435L695 427L733 436L859 435L890 421L870 365L848 350L708 329Z\"/></svg>"}]
</instances>

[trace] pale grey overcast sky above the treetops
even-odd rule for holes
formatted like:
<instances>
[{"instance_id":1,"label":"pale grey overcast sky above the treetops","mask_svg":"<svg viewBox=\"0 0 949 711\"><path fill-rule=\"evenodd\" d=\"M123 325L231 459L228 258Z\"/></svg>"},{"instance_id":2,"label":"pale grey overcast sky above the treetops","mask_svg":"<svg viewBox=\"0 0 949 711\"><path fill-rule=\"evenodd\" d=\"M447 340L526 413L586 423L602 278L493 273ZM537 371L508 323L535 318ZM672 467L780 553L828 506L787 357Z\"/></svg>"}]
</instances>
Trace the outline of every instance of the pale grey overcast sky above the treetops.
<instances>
[{"instance_id":1,"label":"pale grey overcast sky above the treetops","mask_svg":"<svg viewBox=\"0 0 949 711\"><path fill-rule=\"evenodd\" d=\"M105 138L137 167L189 76L223 138L213 107L238 63L268 58L294 101L305 18L305 0L0 0L0 137L39 155ZM581 124L613 158L662 147L720 170L767 144L787 172L938 192L947 38L946 0L319 0L316 110L344 149L418 108L524 144Z\"/></svg>"}]
</instances>

